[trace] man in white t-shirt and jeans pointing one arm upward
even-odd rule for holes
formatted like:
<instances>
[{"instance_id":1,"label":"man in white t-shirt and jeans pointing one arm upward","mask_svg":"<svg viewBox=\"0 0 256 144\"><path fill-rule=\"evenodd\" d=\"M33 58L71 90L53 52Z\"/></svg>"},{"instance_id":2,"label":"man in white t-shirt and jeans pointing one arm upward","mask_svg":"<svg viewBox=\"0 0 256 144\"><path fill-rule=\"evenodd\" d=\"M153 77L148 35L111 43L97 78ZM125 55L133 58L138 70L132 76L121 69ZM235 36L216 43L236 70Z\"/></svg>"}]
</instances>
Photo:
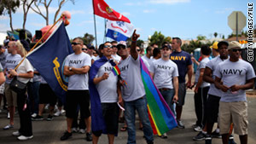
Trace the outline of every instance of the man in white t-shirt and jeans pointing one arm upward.
<instances>
[{"instance_id":1,"label":"man in white t-shirt and jeans pointing one arm upward","mask_svg":"<svg viewBox=\"0 0 256 144\"><path fill-rule=\"evenodd\" d=\"M119 63L120 76L127 83L122 89L122 97L125 101L125 120L127 122L127 144L136 143L135 111L143 123L143 133L148 144L154 143L153 130L148 119L146 93L141 76L140 55L136 50L136 41L139 35L133 32L131 50L126 45L119 43L118 53L122 57Z\"/></svg>"}]
</instances>

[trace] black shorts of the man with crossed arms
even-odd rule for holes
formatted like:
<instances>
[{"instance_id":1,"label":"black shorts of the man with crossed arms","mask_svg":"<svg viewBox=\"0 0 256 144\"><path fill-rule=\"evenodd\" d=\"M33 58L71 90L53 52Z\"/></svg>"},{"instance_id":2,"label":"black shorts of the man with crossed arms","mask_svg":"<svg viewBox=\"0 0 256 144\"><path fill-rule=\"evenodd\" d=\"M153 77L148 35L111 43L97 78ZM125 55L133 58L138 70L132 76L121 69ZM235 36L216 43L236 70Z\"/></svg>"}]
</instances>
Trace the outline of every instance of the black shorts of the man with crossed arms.
<instances>
[{"instance_id":1,"label":"black shorts of the man with crossed arms","mask_svg":"<svg viewBox=\"0 0 256 144\"><path fill-rule=\"evenodd\" d=\"M80 113L84 114L84 118L89 118L90 117L89 90L67 90L66 117L75 118L78 106L80 106Z\"/></svg>"}]
</instances>

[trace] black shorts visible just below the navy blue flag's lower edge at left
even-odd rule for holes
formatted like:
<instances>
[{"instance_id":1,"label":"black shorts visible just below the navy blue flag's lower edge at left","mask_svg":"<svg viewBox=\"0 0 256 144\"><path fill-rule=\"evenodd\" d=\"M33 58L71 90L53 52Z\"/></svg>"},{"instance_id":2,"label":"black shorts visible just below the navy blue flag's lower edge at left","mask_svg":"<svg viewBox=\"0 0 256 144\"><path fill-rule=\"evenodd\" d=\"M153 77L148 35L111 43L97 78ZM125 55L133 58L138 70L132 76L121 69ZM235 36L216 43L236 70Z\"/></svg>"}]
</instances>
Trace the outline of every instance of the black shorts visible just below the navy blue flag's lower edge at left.
<instances>
[{"instance_id":1,"label":"black shorts visible just below the navy blue flag's lower edge at left","mask_svg":"<svg viewBox=\"0 0 256 144\"><path fill-rule=\"evenodd\" d=\"M40 84L39 86L39 104L47 104L54 107L57 102L57 95L49 87L49 84Z\"/></svg>"}]
</instances>

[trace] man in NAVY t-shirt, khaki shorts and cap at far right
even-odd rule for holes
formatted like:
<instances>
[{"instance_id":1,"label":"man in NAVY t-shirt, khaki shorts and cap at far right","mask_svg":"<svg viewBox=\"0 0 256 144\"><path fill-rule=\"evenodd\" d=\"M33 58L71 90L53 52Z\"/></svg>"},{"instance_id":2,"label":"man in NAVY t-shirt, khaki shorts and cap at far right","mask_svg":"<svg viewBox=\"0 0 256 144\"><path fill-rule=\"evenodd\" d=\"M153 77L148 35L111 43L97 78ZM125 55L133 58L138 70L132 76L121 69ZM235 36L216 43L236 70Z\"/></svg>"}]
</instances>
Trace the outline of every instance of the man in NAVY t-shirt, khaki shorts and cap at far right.
<instances>
[{"instance_id":1,"label":"man in NAVY t-shirt, khaki shorts and cap at far right","mask_svg":"<svg viewBox=\"0 0 256 144\"><path fill-rule=\"evenodd\" d=\"M236 41L229 43L229 60L219 63L215 76L215 86L224 93L219 102L219 130L224 144L229 143L230 124L239 135L241 144L247 144L247 97L245 90L252 89L255 73L253 66L241 60L241 45ZM222 82L221 82L222 81Z\"/></svg>"}]
</instances>

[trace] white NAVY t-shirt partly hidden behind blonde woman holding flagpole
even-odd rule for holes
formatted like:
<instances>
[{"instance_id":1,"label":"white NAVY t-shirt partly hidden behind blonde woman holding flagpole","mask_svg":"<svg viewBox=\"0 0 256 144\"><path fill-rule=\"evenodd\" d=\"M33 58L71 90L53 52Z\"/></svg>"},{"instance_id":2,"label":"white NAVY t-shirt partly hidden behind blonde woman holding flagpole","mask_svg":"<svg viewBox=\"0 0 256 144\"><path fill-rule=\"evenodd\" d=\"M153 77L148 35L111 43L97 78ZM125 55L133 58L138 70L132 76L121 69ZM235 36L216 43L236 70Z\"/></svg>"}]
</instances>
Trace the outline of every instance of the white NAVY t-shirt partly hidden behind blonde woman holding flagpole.
<instances>
[{"instance_id":1,"label":"white NAVY t-shirt partly hidden behind blonde woman holding flagpole","mask_svg":"<svg viewBox=\"0 0 256 144\"><path fill-rule=\"evenodd\" d=\"M9 74L9 70L10 69L15 69L15 66L17 66L19 64L21 60L21 56L16 54L16 55L11 55L8 54L6 56L6 60L5 60L5 66L4 68L6 68L6 80L5 83L6 84L10 84L10 82L12 81L12 78L7 78L7 75Z\"/></svg>"}]
</instances>

